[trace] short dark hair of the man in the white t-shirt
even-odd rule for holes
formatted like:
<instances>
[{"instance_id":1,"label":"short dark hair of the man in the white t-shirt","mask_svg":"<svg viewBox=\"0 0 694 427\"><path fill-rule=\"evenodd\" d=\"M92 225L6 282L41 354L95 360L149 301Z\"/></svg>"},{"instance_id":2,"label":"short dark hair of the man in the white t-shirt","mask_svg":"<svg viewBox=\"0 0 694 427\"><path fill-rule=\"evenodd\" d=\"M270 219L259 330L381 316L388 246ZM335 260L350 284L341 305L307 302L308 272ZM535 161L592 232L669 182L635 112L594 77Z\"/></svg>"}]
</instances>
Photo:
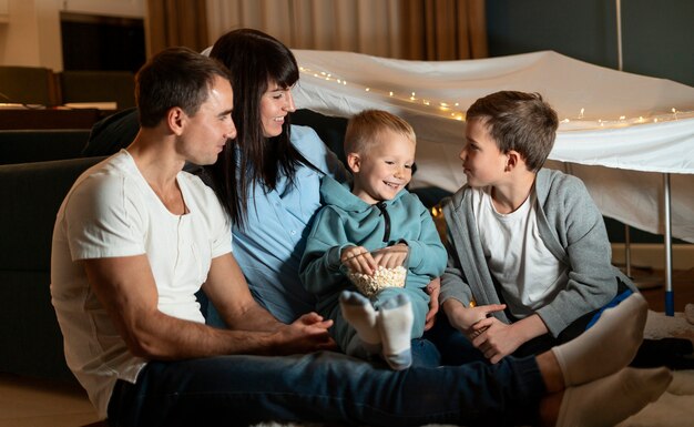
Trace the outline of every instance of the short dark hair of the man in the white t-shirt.
<instances>
[{"instance_id":1,"label":"short dark hair of the man in the white t-shirt","mask_svg":"<svg viewBox=\"0 0 694 427\"><path fill-rule=\"evenodd\" d=\"M231 80L222 63L194 50L169 48L161 51L135 74L140 125L156 126L174 106L195 115L207 100L216 75Z\"/></svg>"}]
</instances>

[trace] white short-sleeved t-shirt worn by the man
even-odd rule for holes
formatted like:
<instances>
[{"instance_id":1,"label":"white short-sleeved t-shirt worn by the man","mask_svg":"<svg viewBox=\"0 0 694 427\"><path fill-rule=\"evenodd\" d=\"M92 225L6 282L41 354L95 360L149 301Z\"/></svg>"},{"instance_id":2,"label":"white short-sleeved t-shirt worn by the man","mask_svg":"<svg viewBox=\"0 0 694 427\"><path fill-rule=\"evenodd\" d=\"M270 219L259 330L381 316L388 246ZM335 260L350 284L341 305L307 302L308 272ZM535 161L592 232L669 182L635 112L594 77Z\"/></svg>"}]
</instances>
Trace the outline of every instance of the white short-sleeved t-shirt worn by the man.
<instances>
[{"instance_id":1,"label":"white short-sleeved t-shirt worn by the man","mask_svg":"<svg viewBox=\"0 0 694 427\"><path fill-rule=\"evenodd\" d=\"M213 258L232 251L231 224L214 192L178 173L187 209L171 213L125 150L84 172L53 230L51 296L68 366L104 418L118 379L134 383L146 360L133 356L92 292L79 260L146 254L159 309L204 323L195 293Z\"/></svg>"}]
</instances>

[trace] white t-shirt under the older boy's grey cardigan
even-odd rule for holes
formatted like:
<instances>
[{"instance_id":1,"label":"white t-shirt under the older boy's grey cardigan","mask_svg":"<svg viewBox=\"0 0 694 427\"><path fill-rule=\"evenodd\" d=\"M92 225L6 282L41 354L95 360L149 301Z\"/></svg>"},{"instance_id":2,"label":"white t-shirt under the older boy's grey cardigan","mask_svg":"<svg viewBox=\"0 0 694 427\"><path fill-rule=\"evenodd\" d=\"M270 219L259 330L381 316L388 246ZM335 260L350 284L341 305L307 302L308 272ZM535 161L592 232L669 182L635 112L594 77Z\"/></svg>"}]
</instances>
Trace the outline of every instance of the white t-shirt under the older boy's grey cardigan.
<instances>
[{"instance_id":1,"label":"white t-shirt under the older boy's grey cardigan","mask_svg":"<svg viewBox=\"0 0 694 427\"><path fill-rule=\"evenodd\" d=\"M491 187L472 191L482 250L511 314L524 318L554 299L568 282L568 271L540 236L534 187L509 214L497 212L490 192Z\"/></svg>"}]
</instances>

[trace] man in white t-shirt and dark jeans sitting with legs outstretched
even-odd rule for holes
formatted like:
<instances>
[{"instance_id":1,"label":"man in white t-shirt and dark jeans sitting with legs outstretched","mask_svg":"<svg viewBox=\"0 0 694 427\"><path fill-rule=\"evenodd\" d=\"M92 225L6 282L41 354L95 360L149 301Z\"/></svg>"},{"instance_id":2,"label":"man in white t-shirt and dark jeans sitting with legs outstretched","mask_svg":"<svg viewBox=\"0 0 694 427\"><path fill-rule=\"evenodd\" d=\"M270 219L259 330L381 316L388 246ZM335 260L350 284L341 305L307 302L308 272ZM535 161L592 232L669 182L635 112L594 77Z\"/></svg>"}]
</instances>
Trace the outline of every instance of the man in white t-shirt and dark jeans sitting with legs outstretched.
<instances>
[{"instance_id":1,"label":"man in white t-shirt and dark jeans sitting with legs outstretched","mask_svg":"<svg viewBox=\"0 0 694 427\"><path fill-rule=\"evenodd\" d=\"M65 358L111 425L595 425L581 409L615 396L616 414L595 411L609 425L670 383L666 369L613 374L640 343L639 302L603 316L573 346L494 367L395 373L326 352L267 357L331 346L331 323L309 313L284 325L254 302L217 199L182 172L185 162L216 161L235 136L225 69L184 48L165 50L137 73L136 100L137 136L78 179L53 232L51 294ZM228 329L204 324L201 285ZM609 340L621 357L598 339L615 329L626 337ZM593 366L598 353L612 357Z\"/></svg>"}]
</instances>

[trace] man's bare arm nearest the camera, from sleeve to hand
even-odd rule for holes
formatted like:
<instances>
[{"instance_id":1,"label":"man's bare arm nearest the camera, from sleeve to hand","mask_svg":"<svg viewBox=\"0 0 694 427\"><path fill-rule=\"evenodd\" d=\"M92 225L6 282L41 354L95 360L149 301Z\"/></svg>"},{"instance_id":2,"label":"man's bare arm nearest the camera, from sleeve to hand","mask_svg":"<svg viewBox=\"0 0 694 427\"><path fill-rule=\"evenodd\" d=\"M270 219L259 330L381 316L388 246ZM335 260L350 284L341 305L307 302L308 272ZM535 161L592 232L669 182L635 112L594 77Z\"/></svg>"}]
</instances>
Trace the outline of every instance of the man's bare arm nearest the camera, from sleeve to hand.
<instances>
[{"instance_id":1,"label":"man's bare arm nearest the camera, from sleeve to hand","mask_svg":"<svg viewBox=\"0 0 694 427\"><path fill-rule=\"evenodd\" d=\"M212 270L220 258L213 260ZM160 312L146 255L86 260L82 264L96 297L136 356L181 359L224 354L279 354L306 338L304 325L282 325L273 332L216 329ZM231 277L228 279L231 282ZM323 333L327 334L325 329Z\"/></svg>"}]
</instances>

